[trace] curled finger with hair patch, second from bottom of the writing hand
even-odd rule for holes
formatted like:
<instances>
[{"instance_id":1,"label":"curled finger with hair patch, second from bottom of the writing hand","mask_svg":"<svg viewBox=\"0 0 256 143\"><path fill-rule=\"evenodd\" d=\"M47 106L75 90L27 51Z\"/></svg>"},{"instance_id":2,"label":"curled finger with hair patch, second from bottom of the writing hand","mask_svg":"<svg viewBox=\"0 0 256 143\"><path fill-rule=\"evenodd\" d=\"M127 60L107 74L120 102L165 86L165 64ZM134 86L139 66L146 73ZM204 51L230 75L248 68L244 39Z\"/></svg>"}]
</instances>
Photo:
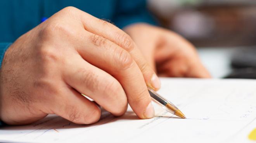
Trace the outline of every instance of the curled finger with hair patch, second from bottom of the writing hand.
<instances>
[{"instance_id":1,"label":"curled finger with hair patch, second from bottom of the writing hand","mask_svg":"<svg viewBox=\"0 0 256 143\"><path fill-rule=\"evenodd\" d=\"M107 72L84 61L81 57L74 57L66 64L64 73L64 80L78 92L93 99L115 116L125 113L127 109L125 91Z\"/></svg>"}]
</instances>

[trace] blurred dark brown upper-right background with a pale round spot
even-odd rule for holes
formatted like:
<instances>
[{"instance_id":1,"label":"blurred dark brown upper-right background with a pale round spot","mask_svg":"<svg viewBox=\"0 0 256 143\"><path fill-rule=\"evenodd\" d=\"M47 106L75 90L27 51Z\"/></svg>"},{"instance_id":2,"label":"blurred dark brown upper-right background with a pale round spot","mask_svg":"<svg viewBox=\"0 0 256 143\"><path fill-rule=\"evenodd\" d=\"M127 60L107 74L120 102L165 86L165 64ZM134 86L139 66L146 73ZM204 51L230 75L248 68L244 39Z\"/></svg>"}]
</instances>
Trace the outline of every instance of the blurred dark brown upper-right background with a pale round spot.
<instances>
[{"instance_id":1,"label":"blurred dark brown upper-right background with a pale round spot","mask_svg":"<svg viewBox=\"0 0 256 143\"><path fill-rule=\"evenodd\" d=\"M256 0L148 0L161 25L194 45L256 45Z\"/></svg>"}]
</instances>

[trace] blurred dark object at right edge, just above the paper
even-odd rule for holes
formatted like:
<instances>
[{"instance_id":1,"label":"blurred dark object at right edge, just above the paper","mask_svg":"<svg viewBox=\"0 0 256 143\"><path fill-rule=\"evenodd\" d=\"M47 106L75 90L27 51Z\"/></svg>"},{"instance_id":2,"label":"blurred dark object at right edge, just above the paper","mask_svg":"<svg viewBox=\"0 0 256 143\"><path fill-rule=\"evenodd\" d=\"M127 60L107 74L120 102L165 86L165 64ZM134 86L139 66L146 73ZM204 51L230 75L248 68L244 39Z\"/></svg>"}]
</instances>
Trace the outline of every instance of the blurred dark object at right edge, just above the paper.
<instances>
[{"instance_id":1,"label":"blurred dark object at right edge, just above the paper","mask_svg":"<svg viewBox=\"0 0 256 143\"><path fill-rule=\"evenodd\" d=\"M224 78L256 79L256 47L240 49L231 59L233 71Z\"/></svg>"}]
</instances>

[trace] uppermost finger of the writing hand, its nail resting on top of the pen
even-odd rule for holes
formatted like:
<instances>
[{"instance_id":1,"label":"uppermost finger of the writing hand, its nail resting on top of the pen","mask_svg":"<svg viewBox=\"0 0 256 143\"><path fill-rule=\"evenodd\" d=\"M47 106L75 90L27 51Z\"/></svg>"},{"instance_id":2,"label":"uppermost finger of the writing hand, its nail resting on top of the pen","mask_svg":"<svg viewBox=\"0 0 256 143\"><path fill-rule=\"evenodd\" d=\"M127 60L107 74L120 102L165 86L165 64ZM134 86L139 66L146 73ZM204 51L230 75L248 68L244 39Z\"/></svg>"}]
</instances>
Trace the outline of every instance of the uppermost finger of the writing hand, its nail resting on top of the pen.
<instances>
[{"instance_id":1,"label":"uppermost finger of the writing hand, its nail resting on top of the pen","mask_svg":"<svg viewBox=\"0 0 256 143\"><path fill-rule=\"evenodd\" d=\"M147 86L155 90L158 90L161 87L161 82L154 70L149 66L147 61L145 61L144 56L128 34L115 25L82 11L81 21L88 32L104 37L130 52L142 71Z\"/></svg>"}]
</instances>

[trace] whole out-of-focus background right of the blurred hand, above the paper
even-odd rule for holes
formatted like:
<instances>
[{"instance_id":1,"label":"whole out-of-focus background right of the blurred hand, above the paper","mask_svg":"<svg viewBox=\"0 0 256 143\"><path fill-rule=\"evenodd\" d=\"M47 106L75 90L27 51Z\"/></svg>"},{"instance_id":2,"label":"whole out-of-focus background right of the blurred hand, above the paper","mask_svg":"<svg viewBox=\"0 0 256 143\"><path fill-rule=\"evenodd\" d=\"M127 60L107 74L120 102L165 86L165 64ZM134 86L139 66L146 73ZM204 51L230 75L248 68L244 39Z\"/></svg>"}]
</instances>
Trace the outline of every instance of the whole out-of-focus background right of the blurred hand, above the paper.
<instances>
[{"instance_id":1,"label":"whole out-of-focus background right of the blurred hand, above the paper","mask_svg":"<svg viewBox=\"0 0 256 143\"><path fill-rule=\"evenodd\" d=\"M216 78L256 79L256 0L147 0L159 24L197 47Z\"/></svg>"}]
</instances>

